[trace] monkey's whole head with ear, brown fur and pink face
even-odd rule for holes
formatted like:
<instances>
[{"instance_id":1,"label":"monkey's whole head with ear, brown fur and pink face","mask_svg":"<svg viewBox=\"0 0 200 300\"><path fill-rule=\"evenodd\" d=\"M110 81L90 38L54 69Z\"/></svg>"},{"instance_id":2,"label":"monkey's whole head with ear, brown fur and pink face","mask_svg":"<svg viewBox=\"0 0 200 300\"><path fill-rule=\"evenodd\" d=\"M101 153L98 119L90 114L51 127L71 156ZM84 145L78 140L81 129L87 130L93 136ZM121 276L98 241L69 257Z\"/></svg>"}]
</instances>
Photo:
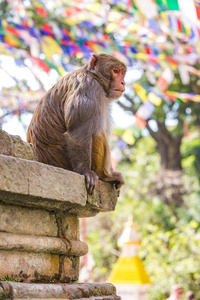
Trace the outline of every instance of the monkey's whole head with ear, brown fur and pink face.
<instances>
[{"instance_id":1,"label":"monkey's whole head with ear, brown fur and pink face","mask_svg":"<svg viewBox=\"0 0 200 300\"><path fill-rule=\"evenodd\" d=\"M120 98L125 91L124 76L126 66L117 58L100 53L92 54L89 62L90 72L104 87L110 100Z\"/></svg>"}]
</instances>

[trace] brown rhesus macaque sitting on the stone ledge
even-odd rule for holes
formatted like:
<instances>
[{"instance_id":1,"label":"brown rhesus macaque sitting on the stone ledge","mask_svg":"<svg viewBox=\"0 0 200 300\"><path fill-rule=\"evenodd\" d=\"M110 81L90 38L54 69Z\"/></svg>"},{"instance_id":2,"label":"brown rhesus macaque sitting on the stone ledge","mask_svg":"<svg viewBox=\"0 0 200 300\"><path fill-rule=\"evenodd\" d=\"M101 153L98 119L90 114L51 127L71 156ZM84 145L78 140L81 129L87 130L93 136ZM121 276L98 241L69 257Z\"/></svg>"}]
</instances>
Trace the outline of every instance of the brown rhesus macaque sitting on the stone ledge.
<instances>
[{"instance_id":1,"label":"brown rhesus macaque sitting on the stone ledge","mask_svg":"<svg viewBox=\"0 0 200 300\"><path fill-rule=\"evenodd\" d=\"M107 54L93 54L41 99L27 133L37 160L85 176L93 193L98 179L119 191L125 183L110 162L110 103L125 91L126 66Z\"/></svg>"}]
</instances>

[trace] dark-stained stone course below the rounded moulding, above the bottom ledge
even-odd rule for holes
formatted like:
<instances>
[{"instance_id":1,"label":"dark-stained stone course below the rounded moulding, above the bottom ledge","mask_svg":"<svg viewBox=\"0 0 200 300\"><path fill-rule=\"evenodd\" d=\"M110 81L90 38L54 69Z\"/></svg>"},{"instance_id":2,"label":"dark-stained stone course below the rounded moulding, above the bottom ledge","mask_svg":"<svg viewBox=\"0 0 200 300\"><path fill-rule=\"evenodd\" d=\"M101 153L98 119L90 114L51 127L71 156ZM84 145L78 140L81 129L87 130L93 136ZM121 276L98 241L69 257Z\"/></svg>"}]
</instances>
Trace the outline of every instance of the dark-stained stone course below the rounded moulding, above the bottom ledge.
<instances>
[{"instance_id":1,"label":"dark-stained stone course below the rounded moulding, above the bottom ledge","mask_svg":"<svg viewBox=\"0 0 200 300\"><path fill-rule=\"evenodd\" d=\"M73 256L0 250L0 266L0 278L22 282L72 282L79 276L79 257Z\"/></svg>"}]
</instances>

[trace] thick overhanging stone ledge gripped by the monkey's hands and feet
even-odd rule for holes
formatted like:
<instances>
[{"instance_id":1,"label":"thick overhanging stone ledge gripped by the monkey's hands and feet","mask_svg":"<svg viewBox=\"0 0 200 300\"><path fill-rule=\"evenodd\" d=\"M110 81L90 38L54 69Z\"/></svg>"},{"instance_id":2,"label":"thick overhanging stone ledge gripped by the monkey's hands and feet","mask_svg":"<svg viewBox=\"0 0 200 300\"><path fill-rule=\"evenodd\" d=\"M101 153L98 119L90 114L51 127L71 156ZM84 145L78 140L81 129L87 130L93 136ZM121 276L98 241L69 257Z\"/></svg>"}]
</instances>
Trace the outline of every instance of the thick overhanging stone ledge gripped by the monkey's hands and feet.
<instances>
[{"instance_id":1,"label":"thick overhanging stone ledge gripped by the monkey's hands and feet","mask_svg":"<svg viewBox=\"0 0 200 300\"><path fill-rule=\"evenodd\" d=\"M21 206L67 211L78 217L113 211L117 193L99 181L92 196L77 173L36 161L0 154L0 201Z\"/></svg>"}]
</instances>

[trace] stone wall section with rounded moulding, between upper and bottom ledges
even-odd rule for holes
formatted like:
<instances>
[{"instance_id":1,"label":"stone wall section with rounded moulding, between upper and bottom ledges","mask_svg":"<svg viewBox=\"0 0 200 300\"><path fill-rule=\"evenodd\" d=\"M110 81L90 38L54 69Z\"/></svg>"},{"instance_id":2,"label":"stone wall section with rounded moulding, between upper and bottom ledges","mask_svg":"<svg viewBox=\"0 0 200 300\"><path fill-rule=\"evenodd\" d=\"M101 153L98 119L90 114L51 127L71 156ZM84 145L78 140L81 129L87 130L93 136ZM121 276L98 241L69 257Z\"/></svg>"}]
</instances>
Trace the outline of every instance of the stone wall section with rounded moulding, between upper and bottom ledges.
<instances>
[{"instance_id":1,"label":"stone wall section with rounded moulding, between upper and bottom ledges","mask_svg":"<svg viewBox=\"0 0 200 300\"><path fill-rule=\"evenodd\" d=\"M61 211L0 202L0 277L26 282L77 280L78 257L88 251L79 240L78 225L76 216Z\"/></svg>"}]
</instances>

